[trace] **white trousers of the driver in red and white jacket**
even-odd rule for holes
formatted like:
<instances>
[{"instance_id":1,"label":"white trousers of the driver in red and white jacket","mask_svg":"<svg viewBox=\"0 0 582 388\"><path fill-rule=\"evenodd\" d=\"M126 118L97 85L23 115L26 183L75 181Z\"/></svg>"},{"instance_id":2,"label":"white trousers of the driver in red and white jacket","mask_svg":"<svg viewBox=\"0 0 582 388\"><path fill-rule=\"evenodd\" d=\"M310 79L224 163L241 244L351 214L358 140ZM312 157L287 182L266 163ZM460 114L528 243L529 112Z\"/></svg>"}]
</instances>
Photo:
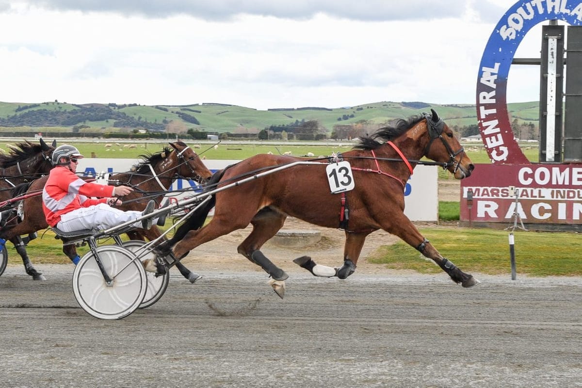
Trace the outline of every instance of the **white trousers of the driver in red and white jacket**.
<instances>
[{"instance_id":1,"label":"white trousers of the driver in red and white jacket","mask_svg":"<svg viewBox=\"0 0 582 388\"><path fill-rule=\"evenodd\" d=\"M73 230L81 229L105 230L127 221L134 221L140 217L141 212L139 211L130 210L124 212L107 204L97 204L63 214L56 227L63 232L73 232ZM141 227L141 221L134 223L133 226Z\"/></svg>"}]
</instances>

